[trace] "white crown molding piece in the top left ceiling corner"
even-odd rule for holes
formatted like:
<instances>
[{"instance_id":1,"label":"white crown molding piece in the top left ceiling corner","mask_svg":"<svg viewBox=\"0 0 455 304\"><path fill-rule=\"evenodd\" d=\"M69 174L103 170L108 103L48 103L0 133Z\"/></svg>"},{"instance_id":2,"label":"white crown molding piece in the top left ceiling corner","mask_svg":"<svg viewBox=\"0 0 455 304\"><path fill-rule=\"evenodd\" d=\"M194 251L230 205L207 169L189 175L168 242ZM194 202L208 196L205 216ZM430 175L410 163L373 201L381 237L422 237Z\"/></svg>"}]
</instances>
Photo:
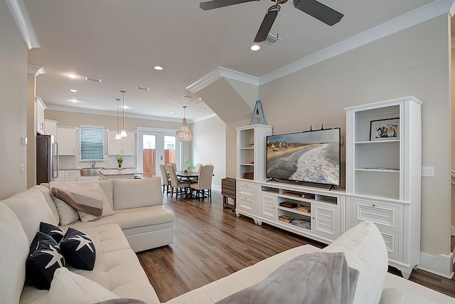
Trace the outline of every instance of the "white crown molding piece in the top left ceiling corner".
<instances>
[{"instance_id":1,"label":"white crown molding piece in the top left ceiling corner","mask_svg":"<svg viewBox=\"0 0 455 304\"><path fill-rule=\"evenodd\" d=\"M19 32L22 35L23 42L26 43L28 50L32 48L41 48L40 43L38 42L38 37L36 37L35 30L31 24L30 17L25 4L22 0L5 0L6 6L8 6L11 16L13 16L14 22Z\"/></svg>"}]
</instances>

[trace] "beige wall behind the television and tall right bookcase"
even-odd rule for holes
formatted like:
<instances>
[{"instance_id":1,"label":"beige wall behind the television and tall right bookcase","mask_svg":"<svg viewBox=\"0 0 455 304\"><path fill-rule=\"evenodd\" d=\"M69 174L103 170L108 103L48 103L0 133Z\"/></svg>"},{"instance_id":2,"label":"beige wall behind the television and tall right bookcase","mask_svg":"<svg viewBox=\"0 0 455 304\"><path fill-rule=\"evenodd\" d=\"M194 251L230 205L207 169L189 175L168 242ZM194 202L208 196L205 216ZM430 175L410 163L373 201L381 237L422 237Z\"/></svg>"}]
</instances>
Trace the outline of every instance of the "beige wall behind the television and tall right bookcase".
<instances>
[{"instance_id":1,"label":"beige wall behind the television and tall right bookcase","mask_svg":"<svg viewBox=\"0 0 455 304\"><path fill-rule=\"evenodd\" d=\"M450 251L449 20L439 16L259 88L274 133L341 127L343 108L414 95L422 106L422 252ZM344 150L344 149L343 149ZM344 155L342 155L344 159Z\"/></svg>"}]
</instances>

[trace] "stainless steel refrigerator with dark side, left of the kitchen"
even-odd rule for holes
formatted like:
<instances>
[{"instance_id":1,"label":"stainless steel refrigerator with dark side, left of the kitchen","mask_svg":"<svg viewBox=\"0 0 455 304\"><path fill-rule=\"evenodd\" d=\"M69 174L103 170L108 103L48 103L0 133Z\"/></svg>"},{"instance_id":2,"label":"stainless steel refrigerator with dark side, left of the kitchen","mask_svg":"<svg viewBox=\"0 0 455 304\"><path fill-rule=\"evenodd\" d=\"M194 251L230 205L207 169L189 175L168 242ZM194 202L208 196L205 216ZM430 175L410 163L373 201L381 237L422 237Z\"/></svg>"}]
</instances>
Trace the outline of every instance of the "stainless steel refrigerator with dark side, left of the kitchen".
<instances>
[{"instance_id":1,"label":"stainless steel refrigerator with dark side, left of the kitchen","mask_svg":"<svg viewBox=\"0 0 455 304\"><path fill-rule=\"evenodd\" d=\"M36 135L36 184L58 177L58 144L53 135Z\"/></svg>"}]
</instances>

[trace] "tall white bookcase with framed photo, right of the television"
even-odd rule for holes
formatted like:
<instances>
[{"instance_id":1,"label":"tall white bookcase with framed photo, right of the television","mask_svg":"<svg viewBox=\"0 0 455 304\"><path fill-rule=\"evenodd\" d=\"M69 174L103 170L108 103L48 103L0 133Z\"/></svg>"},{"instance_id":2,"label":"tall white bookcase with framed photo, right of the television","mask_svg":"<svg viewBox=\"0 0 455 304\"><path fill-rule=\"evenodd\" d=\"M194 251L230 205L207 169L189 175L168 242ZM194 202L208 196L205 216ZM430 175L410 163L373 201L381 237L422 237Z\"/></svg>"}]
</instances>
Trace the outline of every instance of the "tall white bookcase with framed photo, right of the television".
<instances>
[{"instance_id":1,"label":"tall white bookcase with framed photo, right of the television","mask_svg":"<svg viewBox=\"0 0 455 304\"><path fill-rule=\"evenodd\" d=\"M373 221L405 278L420 261L421 105L407 97L345 109L348 228Z\"/></svg>"}]
</instances>

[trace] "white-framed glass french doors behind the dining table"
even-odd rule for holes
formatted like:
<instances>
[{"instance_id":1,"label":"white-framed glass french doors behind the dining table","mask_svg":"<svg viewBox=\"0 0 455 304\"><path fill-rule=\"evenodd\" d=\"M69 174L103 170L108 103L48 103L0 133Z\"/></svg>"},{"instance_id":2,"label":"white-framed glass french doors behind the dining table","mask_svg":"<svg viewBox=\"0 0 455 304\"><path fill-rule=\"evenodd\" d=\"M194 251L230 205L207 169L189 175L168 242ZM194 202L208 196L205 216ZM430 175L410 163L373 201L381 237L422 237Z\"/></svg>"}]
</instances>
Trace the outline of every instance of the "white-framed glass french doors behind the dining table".
<instances>
[{"instance_id":1,"label":"white-framed glass french doors behind the dining table","mask_svg":"<svg viewBox=\"0 0 455 304\"><path fill-rule=\"evenodd\" d=\"M161 177L160 164L176 162L178 141L174 132L139 130L137 164L145 177Z\"/></svg>"}]
</instances>

